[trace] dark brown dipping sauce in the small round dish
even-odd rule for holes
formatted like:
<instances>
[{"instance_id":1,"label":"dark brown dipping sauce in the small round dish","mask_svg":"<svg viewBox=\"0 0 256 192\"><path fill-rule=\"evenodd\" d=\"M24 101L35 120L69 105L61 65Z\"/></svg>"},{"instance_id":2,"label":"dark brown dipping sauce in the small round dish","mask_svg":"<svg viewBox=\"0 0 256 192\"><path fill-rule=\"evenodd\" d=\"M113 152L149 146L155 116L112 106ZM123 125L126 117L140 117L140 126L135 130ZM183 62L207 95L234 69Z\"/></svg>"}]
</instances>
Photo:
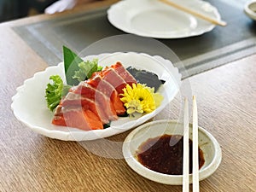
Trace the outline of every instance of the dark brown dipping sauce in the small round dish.
<instances>
[{"instance_id":1,"label":"dark brown dipping sauce in the small round dish","mask_svg":"<svg viewBox=\"0 0 256 192\"><path fill-rule=\"evenodd\" d=\"M189 139L189 173L192 173L192 141ZM198 148L199 169L205 160ZM137 160L148 169L169 175L183 174L183 136L163 135L149 138L137 149Z\"/></svg>"}]
</instances>

